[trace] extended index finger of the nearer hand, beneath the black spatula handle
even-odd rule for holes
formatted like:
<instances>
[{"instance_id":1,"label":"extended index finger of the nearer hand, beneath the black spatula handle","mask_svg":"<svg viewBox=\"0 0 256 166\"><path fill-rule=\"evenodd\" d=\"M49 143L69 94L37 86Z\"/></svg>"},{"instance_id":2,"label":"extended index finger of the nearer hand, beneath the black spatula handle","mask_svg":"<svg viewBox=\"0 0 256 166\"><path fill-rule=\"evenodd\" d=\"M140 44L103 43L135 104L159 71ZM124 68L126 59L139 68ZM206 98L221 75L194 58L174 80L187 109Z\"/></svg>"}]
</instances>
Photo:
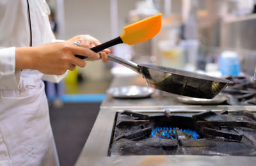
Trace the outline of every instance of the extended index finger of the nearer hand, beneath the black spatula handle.
<instances>
[{"instance_id":1,"label":"extended index finger of the nearer hand, beneath the black spatula handle","mask_svg":"<svg viewBox=\"0 0 256 166\"><path fill-rule=\"evenodd\" d=\"M93 52L90 49L86 49L84 47L75 47L75 46L71 46L70 48L71 48L72 53L74 55L91 57L91 58L93 58L95 60L100 59L100 56L96 52Z\"/></svg>"}]
</instances>

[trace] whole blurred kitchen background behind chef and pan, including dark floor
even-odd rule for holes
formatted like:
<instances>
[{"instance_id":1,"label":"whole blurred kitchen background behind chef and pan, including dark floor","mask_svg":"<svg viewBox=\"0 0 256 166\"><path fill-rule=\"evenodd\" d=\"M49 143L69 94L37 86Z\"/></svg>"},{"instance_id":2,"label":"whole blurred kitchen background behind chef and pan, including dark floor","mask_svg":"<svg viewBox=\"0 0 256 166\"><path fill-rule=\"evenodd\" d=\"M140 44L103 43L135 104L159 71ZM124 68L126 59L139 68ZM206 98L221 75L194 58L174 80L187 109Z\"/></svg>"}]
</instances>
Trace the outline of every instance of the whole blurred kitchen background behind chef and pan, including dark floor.
<instances>
[{"instance_id":1,"label":"whole blurred kitchen background behind chef and pan, including dark floor","mask_svg":"<svg viewBox=\"0 0 256 166\"><path fill-rule=\"evenodd\" d=\"M111 48L112 53L136 63L153 63L216 77L253 75L255 70L254 0L48 0L47 3L54 13L52 20L58 39L90 34L103 43L119 36L122 28L132 22L162 13L163 27L156 37L138 45L116 45ZM119 64L95 61L69 72L60 84L47 83L61 165L76 161L111 79L115 75L132 74ZM74 102L80 103L69 105ZM91 123L84 124L85 121ZM72 133L70 126L80 127L79 132ZM64 137L74 137L77 145L67 147L70 140L63 140ZM67 148L75 146L76 153L68 153Z\"/></svg>"}]
</instances>

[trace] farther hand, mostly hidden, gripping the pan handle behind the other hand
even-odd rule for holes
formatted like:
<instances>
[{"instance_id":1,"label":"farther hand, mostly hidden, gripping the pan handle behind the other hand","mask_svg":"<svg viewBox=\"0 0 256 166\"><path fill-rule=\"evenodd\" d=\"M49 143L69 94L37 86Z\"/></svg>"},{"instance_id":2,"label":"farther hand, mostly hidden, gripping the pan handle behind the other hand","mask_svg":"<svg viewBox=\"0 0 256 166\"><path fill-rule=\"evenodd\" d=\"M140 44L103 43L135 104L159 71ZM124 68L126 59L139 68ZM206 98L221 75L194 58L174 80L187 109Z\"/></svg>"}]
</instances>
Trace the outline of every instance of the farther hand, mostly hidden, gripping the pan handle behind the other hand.
<instances>
[{"instance_id":1,"label":"farther hand, mostly hidden, gripping the pan handle behind the other hand","mask_svg":"<svg viewBox=\"0 0 256 166\"><path fill-rule=\"evenodd\" d=\"M75 41L80 42L81 47L85 47L87 49L90 49L92 47L95 47L95 46L101 44L99 40L97 40L96 38L93 38L92 36L90 36L88 34L74 36L73 38L71 38L65 42L74 44ZM101 56L103 63L108 63L108 56L106 54L108 54L109 52L110 52L109 49L102 50L102 53L100 54L100 56ZM87 57L85 60L86 61L95 61L95 59L92 59L90 57Z\"/></svg>"}]
</instances>

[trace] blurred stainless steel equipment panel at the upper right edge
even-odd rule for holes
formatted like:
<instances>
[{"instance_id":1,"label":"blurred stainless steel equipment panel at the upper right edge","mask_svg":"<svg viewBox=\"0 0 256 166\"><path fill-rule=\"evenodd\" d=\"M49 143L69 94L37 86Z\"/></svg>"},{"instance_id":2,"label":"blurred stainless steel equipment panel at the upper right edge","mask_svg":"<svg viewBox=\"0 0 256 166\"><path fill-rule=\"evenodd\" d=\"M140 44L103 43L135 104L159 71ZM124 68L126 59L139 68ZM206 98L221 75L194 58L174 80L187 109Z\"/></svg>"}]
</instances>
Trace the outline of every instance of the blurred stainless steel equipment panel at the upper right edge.
<instances>
[{"instance_id":1,"label":"blurred stainless steel equipment panel at the upper right edge","mask_svg":"<svg viewBox=\"0 0 256 166\"><path fill-rule=\"evenodd\" d=\"M256 64L256 14L243 17L226 17L221 22L221 48L236 50L240 57L241 70L253 75Z\"/></svg>"}]
</instances>

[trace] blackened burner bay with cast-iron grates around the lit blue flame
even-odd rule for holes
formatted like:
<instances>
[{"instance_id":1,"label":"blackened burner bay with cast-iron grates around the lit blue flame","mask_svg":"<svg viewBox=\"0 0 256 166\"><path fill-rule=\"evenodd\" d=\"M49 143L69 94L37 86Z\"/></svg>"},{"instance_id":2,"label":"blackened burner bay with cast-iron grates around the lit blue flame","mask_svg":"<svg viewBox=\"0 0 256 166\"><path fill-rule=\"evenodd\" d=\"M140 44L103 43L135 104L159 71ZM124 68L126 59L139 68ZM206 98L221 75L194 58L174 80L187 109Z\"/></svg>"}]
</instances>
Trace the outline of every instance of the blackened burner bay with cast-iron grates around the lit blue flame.
<instances>
[{"instance_id":1,"label":"blackened burner bay with cast-iron grates around the lit blue flame","mask_svg":"<svg viewBox=\"0 0 256 166\"><path fill-rule=\"evenodd\" d=\"M116 112L108 156L256 156L256 117L221 112Z\"/></svg>"}]
</instances>

